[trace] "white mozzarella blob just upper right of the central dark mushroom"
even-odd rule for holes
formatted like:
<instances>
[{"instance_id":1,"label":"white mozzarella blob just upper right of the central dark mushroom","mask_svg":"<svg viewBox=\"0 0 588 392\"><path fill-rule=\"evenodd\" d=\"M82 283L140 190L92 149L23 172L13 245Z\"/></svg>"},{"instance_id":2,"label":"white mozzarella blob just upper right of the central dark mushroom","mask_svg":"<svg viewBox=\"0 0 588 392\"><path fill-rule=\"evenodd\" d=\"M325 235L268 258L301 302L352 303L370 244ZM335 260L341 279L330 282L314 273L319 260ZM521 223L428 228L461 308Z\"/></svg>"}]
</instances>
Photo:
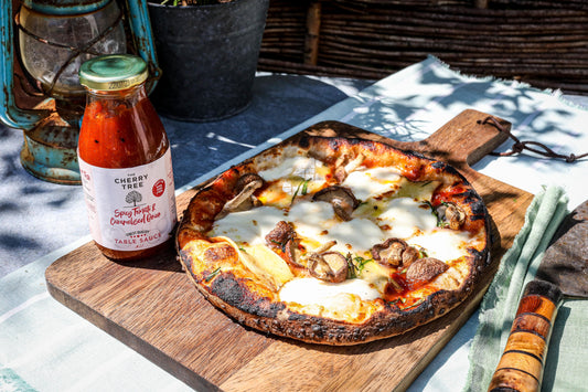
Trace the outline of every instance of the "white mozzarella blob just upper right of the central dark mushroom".
<instances>
[{"instance_id":1,"label":"white mozzarella blob just upper right of the central dark mushroom","mask_svg":"<svg viewBox=\"0 0 588 392\"><path fill-rule=\"evenodd\" d=\"M342 184L350 188L355 198L366 200L396 190L400 181L398 171L386 167L352 171Z\"/></svg>"}]
</instances>

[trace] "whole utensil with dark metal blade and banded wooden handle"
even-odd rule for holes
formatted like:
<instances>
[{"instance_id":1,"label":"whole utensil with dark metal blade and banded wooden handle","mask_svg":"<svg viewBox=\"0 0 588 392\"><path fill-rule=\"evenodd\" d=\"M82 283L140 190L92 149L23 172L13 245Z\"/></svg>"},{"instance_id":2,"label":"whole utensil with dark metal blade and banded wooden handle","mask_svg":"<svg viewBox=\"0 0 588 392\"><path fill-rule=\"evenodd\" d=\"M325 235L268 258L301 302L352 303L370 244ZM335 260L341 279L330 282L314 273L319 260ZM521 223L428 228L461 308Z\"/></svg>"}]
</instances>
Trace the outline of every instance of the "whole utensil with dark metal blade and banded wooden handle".
<instances>
[{"instance_id":1,"label":"whole utensil with dark metal blade and banded wooden handle","mask_svg":"<svg viewBox=\"0 0 588 392\"><path fill-rule=\"evenodd\" d=\"M557 308L588 298L588 200L569 213L523 292L489 391L538 391Z\"/></svg>"}]
</instances>

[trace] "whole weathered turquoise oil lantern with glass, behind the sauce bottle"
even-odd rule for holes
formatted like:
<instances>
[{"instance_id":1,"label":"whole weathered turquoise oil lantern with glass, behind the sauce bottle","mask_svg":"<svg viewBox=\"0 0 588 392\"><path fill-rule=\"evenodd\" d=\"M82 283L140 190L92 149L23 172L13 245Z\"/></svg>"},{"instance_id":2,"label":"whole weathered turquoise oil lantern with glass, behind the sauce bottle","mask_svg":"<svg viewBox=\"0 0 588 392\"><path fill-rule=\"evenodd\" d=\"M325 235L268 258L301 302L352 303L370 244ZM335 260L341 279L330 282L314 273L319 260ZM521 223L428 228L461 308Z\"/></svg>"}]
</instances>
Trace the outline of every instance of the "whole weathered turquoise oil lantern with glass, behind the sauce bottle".
<instances>
[{"instance_id":1,"label":"whole weathered turquoise oil lantern with glass, behind the sauce bottle","mask_svg":"<svg viewBox=\"0 0 588 392\"><path fill-rule=\"evenodd\" d=\"M79 66L99 54L136 53L148 63L152 89L160 70L147 0L8 0L0 40L0 120L23 130L22 166L46 181L79 184ZM15 96L34 105L20 107Z\"/></svg>"}]
</instances>

